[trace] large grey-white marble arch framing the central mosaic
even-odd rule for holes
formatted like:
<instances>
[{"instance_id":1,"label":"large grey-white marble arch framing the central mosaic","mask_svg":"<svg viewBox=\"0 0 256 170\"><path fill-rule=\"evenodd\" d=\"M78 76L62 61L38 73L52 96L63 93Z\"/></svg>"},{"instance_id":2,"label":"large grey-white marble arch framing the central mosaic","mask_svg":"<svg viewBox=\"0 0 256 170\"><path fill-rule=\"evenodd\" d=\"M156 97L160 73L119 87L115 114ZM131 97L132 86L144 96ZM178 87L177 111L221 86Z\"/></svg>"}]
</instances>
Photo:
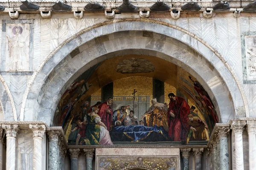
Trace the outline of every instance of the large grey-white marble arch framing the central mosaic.
<instances>
[{"instance_id":1,"label":"large grey-white marble arch framing the central mosaic","mask_svg":"<svg viewBox=\"0 0 256 170\"><path fill-rule=\"evenodd\" d=\"M90 66L113 57L113 54L122 54L123 51L151 51L155 57L169 60L193 73L194 77L205 83L207 91L212 92L211 98L220 106L218 116L221 113L221 122L227 122L234 116L245 116L247 101L241 85L232 68L215 49L180 27L152 20L142 21L109 21L108 24L81 31L58 46L33 74L29 82L31 87L27 86L27 93L23 98L21 119L42 120L50 125L52 113L54 114L63 89ZM149 34L136 38L136 31L141 30ZM126 32L126 36L116 41L111 39L111 36L114 38L113 33L120 31L128 31L128 34ZM129 31L134 36L130 36ZM131 46L127 47L127 44ZM172 48L176 50L170 50ZM177 51L182 51L183 54L178 55ZM76 67L67 65L67 62L72 62ZM52 102L51 107L49 103L44 103L46 100Z\"/></svg>"}]
</instances>

